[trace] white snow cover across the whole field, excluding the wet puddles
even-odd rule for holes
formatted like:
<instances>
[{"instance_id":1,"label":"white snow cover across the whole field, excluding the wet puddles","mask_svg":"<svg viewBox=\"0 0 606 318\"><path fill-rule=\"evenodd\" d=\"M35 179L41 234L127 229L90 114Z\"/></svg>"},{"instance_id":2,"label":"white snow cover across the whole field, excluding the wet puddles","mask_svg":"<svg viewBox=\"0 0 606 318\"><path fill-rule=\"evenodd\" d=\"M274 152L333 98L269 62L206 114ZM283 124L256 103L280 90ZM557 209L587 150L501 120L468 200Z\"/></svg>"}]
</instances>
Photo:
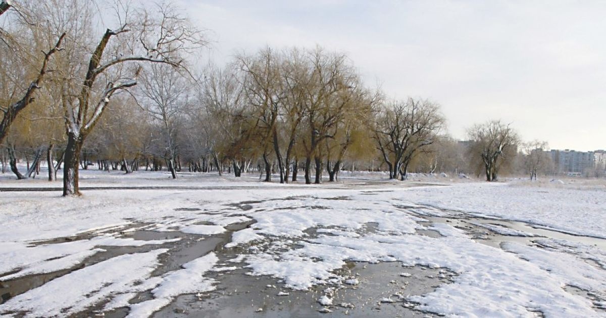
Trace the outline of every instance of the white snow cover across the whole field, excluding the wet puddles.
<instances>
[{"instance_id":1,"label":"white snow cover across the whole field, excluding the wet puddles","mask_svg":"<svg viewBox=\"0 0 606 318\"><path fill-rule=\"evenodd\" d=\"M116 173L109 177L98 171L82 174L84 187L190 185L196 190L90 190L82 197L67 198L57 192L1 192L0 281L73 269L112 247L148 250L68 271L2 303L0 316L61 316L93 307L128 307L129 316L148 317L180 294L213 293L219 282L208 277L209 273L225 271L229 275L229 271L242 267L248 275L275 277L276 285L293 290L350 286L354 279L363 287L364 279L340 276L336 271L355 261L400 262L403 267L394 275L402 279L410 276L400 274L407 272L406 267L419 265L454 273L436 290L404 299L430 313L452 317L606 317L606 245L477 224L479 231L528 242L503 242L493 247L465 229L431 219L498 217L606 238L606 187L525 182L421 187L404 187L407 182L375 182L361 187L327 182L308 187L256 182L258 176L238 181L193 175L173 183L162 173L133 173L125 179ZM48 185L2 179L0 187ZM203 240L224 235L228 225L250 221L255 223L235 231L225 245L242 251L231 259L230 267L224 267L211 252L180 269L156 275L162 257L170 254L168 248L180 240L125 236L128 231L145 228L163 233L181 231ZM424 231L436 235L427 236ZM87 236L73 242L44 242L82 233ZM583 292L574 292L578 290ZM153 299L130 302L144 291ZM318 295L322 305L336 310L328 297L321 296L326 296ZM315 305L322 308L320 303ZM256 307L251 308L254 310Z\"/></svg>"}]
</instances>

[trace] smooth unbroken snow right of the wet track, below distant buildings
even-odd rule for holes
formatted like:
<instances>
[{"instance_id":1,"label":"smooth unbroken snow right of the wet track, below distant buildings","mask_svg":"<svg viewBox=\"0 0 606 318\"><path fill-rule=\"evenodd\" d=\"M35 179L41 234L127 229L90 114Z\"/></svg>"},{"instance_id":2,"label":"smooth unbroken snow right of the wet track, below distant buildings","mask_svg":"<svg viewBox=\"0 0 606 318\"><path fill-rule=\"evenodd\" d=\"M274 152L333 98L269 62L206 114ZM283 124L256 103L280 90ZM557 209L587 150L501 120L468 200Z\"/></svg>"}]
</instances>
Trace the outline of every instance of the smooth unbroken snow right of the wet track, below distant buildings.
<instances>
[{"instance_id":1,"label":"smooth unbroken snow right of the wet track, below distant buildings","mask_svg":"<svg viewBox=\"0 0 606 318\"><path fill-rule=\"evenodd\" d=\"M571 233L606 238L606 188L470 183L409 188L399 199L425 207L521 220Z\"/></svg>"}]
</instances>

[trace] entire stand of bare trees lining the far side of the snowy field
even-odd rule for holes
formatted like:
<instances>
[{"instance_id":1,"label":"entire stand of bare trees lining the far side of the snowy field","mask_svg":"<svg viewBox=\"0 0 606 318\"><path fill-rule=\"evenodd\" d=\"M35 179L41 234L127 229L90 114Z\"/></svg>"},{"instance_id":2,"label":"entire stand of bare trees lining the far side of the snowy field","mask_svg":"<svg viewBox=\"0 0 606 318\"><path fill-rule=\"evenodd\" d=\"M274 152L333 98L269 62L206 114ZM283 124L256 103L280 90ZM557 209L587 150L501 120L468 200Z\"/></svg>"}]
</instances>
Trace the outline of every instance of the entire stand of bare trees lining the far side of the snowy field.
<instances>
[{"instance_id":1,"label":"entire stand of bare trees lining the far side of the snowy field","mask_svg":"<svg viewBox=\"0 0 606 318\"><path fill-rule=\"evenodd\" d=\"M384 98L342 53L267 47L200 69L188 58L204 34L172 5L1 3L2 169L8 161L19 179L36 176L45 151L48 180L62 168L64 195L79 194L78 171L93 162L125 173L166 167L173 178L182 166L282 183L302 172L319 184L345 164L374 171L376 162L390 179L473 170L495 181L519 150L531 178L547 161L547 145L522 147L499 121L455 141L436 102ZM113 27L99 30L101 16Z\"/></svg>"}]
</instances>

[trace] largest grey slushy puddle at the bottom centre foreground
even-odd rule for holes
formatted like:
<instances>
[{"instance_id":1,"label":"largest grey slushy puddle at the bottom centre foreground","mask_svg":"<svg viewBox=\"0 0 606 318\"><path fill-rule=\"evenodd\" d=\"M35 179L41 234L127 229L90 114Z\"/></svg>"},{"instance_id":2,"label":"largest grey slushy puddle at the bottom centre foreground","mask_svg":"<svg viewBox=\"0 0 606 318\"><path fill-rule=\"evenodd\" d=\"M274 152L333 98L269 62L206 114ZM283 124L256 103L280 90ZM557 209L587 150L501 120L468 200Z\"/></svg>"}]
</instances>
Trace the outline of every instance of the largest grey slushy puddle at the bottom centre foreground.
<instances>
[{"instance_id":1,"label":"largest grey slushy puddle at the bottom centre foreground","mask_svg":"<svg viewBox=\"0 0 606 318\"><path fill-rule=\"evenodd\" d=\"M402 271L410 277L400 276ZM445 273L426 267L404 268L400 262L349 262L336 273L358 277L358 285L321 285L309 291L293 291L282 287L275 278L248 276L247 270L242 269L217 274L214 278L219 280L218 290L205 297L179 296L154 317L323 317L319 310L324 306L318 299L330 287L336 287L332 292L333 305L326 306L332 311L330 316L435 317L414 310L415 304L401 297L429 293L449 283L451 276L439 278L441 271Z\"/></svg>"}]
</instances>

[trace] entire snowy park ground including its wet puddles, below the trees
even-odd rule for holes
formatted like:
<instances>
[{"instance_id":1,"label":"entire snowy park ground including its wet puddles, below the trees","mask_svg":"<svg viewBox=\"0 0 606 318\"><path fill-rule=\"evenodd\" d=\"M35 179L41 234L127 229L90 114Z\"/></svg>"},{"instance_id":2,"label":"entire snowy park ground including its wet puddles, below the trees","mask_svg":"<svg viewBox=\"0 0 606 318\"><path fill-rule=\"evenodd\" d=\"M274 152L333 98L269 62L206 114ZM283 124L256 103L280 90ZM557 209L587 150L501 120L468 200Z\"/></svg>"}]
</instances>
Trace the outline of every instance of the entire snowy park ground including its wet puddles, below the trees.
<instances>
[{"instance_id":1,"label":"entire snowy park ground including its wet puddles, below the trees","mask_svg":"<svg viewBox=\"0 0 606 318\"><path fill-rule=\"evenodd\" d=\"M262 316L301 297L311 303L296 310L312 316L606 317L602 240L478 217L604 237L604 190L232 183L221 191L98 190L81 198L2 193L0 291L18 294L2 296L0 314L168 317L216 310L205 299L248 297L253 306L234 304L216 316ZM392 262L400 265L373 269ZM365 277L363 264L390 288ZM273 294L260 299L239 283ZM359 288L369 300L352 298Z\"/></svg>"}]
</instances>

